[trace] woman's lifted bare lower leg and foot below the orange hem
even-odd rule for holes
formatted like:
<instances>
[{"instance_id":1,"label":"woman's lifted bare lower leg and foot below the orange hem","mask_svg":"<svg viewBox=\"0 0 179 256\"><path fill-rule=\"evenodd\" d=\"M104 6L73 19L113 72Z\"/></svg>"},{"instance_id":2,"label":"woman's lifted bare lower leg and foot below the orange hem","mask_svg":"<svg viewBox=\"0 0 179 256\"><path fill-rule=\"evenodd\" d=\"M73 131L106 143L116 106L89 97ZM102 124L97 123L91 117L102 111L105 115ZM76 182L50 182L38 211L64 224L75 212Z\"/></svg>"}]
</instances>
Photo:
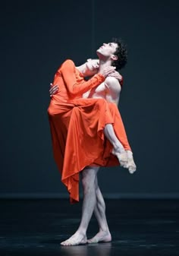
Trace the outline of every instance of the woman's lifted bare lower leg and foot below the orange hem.
<instances>
[{"instance_id":1,"label":"woman's lifted bare lower leg and foot below the orange hem","mask_svg":"<svg viewBox=\"0 0 179 256\"><path fill-rule=\"evenodd\" d=\"M111 124L105 125L104 128L105 137L111 142L113 146L112 153L118 157L118 161L124 168L127 168L127 153L124 150L123 145L118 140L118 137L115 135L114 128Z\"/></svg>"}]
</instances>

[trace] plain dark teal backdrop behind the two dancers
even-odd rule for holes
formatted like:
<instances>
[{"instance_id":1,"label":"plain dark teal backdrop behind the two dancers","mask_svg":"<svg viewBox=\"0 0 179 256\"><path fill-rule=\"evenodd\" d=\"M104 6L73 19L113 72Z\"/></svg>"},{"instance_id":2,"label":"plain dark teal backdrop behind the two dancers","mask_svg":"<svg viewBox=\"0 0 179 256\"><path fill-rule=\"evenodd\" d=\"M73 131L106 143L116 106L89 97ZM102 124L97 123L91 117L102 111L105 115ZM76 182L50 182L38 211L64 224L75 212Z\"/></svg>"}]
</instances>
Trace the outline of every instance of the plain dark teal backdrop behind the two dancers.
<instances>
[{"instance_id":1,"label":"plain dark teal backdrop behind the two dancers","mask_svg":"<svg viewBox=\"0 0 179 256\"><path fill-rule=\"evenodd\" d=\"M119 108L137 172L101 169L108 195L178 197L178 1L1 4L1 197L66 194L52 156L49 83L65 58L84 62L112 36L128 46ZM66 194L67 195L67 194Z\"/></svg>"}]
</instances>

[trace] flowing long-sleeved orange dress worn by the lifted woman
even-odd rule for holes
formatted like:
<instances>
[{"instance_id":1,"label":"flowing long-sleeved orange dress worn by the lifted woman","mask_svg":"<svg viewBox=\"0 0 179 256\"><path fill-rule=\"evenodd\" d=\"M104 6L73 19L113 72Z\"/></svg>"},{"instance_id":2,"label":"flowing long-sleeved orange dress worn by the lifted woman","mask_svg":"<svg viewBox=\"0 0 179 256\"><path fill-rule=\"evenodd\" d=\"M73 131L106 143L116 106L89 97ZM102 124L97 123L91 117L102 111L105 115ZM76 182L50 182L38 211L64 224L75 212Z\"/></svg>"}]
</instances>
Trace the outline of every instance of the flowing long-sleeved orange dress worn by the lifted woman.
<instances>
[{"instance_id":1,"label":"flowing long-sleeved orange dress worn by the lifted woman","mask_svg":"<svg viewBox=\"0 0 179 256\"><path fill-rule=\"evenodd\" d=\"M71 203L79 201L79 172L86 166L117 166L111 143L103 129L112 124L125 150L130 150L118 107L105 99L82 99L83 93L98 86L105 77L95 74L84 81L74 62L65 61L55 74L58 93L49 104L49 125L55 163Z\"/></svg>"}]
</instances>

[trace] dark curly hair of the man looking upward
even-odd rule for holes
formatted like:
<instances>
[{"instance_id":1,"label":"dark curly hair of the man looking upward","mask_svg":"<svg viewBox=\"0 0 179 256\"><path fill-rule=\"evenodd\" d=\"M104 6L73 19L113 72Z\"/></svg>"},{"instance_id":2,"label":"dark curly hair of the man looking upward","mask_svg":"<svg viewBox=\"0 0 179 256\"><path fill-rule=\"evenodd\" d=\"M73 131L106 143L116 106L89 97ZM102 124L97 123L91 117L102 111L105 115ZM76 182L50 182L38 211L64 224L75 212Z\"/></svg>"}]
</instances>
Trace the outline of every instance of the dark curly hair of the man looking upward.
<instances>
[{"instance_id":1,"label":"dark curly hair of the man looking upward","mask_svg":"<svg viewBox=\"0 0 179 256\"><path fill-rule=\"evenodd\" d=\"M116 70L120 70L121 68L124 68L124 66L127 64L127 47L123 43L123 41L118 38L112 38L111 42L118 44L118 48L114 53L114 55L118 56L118 59L112 62L111 65L115 66Z\"/></svg>"}]
</instances>

